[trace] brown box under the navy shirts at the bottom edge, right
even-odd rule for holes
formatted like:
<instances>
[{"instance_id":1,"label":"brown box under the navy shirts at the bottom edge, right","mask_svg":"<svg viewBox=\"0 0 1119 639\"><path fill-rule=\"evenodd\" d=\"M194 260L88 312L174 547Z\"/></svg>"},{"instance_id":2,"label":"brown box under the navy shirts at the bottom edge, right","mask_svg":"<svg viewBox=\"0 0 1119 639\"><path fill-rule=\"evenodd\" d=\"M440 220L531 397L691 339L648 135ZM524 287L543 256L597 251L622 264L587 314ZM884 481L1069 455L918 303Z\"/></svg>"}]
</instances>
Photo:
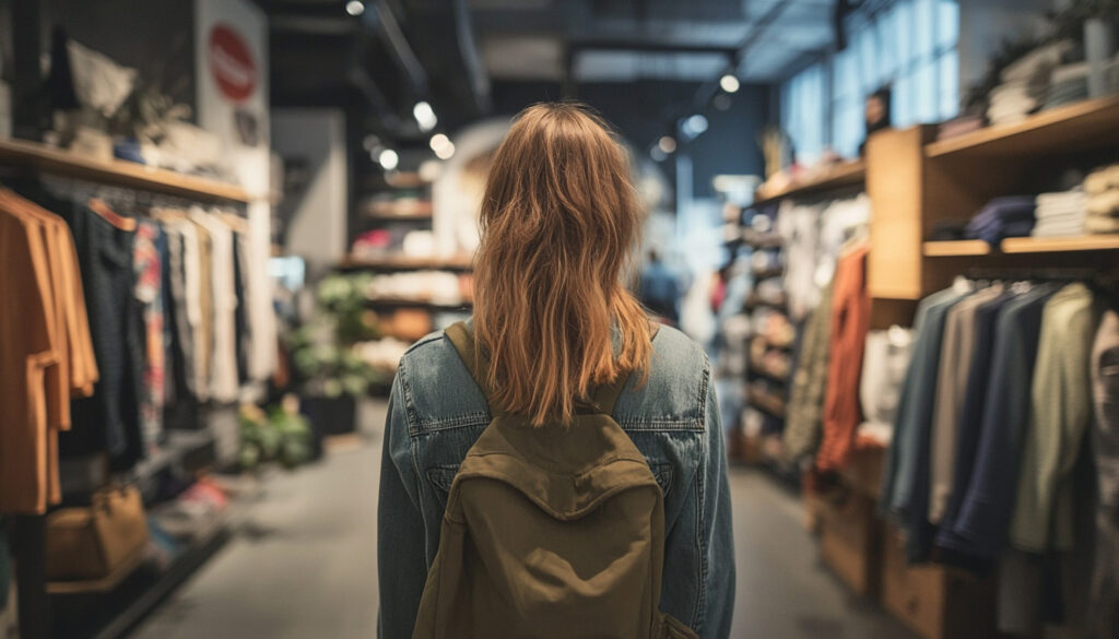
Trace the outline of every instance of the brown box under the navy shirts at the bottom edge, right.
<instances>
[{"instance_id":1,"label":"brown box under the navy shirts at the bottom edge, right","mask_svg":"<svg viewBox=\"0 0 1119 639\"><path fill-rule=\"evenodd\" d=\"M925 639L984 639L995 631L995 586L935 564L911 566L901 532L886 526L882 605Z\"/></svg>"}]
</instances>

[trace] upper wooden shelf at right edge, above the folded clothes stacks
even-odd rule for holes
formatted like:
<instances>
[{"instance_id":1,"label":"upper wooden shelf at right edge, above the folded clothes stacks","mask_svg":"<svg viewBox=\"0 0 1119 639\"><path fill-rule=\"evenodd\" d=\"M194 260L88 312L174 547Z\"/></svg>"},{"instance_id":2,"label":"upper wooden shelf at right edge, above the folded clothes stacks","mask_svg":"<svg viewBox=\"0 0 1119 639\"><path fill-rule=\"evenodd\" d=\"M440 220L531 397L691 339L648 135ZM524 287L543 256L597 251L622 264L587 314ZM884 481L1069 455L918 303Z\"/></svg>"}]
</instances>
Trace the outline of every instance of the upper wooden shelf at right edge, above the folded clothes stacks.
<instances>
[{"instance_id":1,"label":"upper wooden shelf at right edge, above the folded clothes stacks","mask_svg":"<svg viewBox=\"0 0 1119 639\"><path fill-rule=\"evenodd\" d=\"M1119 97L1100 97L1043 111L1015 124L980 129L932 142L929 158L1026 158L1066 154L1119 143Z\"/></svg>"}]
</instances>

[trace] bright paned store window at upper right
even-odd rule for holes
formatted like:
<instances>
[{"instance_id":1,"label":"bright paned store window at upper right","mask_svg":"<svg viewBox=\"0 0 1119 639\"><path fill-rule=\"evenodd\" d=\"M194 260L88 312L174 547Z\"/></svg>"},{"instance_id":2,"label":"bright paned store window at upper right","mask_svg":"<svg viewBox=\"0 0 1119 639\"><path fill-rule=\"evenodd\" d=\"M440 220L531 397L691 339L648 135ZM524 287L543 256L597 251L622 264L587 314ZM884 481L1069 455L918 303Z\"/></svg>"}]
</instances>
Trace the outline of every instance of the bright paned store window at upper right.
<instances>
[{"instance_id":1,"label":"bright paned store window at upper right","mask_svg":"<svg viewBox=\"0 0 1119 639\"><path fill-rule=\"evenodd\" d=\"M959 28L956 0L899 0L880 12L848 19L847 48L825 56L781 87L781 124L793 140L797 159L810 165L828 147L857 156L865 137L863 102L882 86L892 90L894 126L955 116Z\"/></svg>"}]
</instances>

